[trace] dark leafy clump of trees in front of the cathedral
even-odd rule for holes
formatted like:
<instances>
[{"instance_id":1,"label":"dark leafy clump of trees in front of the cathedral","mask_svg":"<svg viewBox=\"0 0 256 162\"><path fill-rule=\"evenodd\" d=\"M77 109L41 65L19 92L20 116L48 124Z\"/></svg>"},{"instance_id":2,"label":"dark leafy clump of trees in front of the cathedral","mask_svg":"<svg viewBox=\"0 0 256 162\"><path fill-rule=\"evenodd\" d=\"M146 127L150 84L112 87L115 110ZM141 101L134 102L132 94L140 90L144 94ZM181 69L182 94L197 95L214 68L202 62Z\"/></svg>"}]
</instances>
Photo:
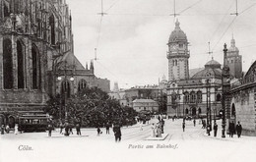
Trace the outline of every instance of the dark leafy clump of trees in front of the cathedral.
<instances>
[{"instance_id":1,"label":"dark leafy clump of trees in front of the cathedral","mask_svg":"<svg viewBox=\"0 0 256 162\"><path fill-rule=\"evenodd\" d=\"M135 123L136 111L130 107L122 108L119 101L112 99L97 87L85 87L65 103L68 119L71 123L81 122L84 127L104 127L118 122L122 125ZM55 97L48 101L45 109L56 120L60 118L60 99ZM62 111L61 117L64 118Z\"/></svg>"}]
</instances>

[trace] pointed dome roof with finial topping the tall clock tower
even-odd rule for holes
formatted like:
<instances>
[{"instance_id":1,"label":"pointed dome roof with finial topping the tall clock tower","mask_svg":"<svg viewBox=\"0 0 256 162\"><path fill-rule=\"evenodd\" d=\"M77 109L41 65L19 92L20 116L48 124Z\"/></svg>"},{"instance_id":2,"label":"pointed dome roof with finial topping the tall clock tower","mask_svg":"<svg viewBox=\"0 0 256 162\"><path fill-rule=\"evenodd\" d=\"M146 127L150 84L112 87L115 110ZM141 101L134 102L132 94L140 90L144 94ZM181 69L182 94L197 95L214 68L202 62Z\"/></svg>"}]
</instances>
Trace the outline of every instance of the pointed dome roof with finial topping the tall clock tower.
<instances>
[{"instance_id":1,"label":"pointed dome roof with finial topping the tall clock tower","mask_svg":"<svg viewBox=\"0 0 256 162\"><path fill-rule=\"evenodd\" d=\"M176 42L177 40L187 41L187 35L183 30L180 29L178 20L175 23L175 29L171 32L169 36L168 42Z\"/></svg>"}]
</instances>

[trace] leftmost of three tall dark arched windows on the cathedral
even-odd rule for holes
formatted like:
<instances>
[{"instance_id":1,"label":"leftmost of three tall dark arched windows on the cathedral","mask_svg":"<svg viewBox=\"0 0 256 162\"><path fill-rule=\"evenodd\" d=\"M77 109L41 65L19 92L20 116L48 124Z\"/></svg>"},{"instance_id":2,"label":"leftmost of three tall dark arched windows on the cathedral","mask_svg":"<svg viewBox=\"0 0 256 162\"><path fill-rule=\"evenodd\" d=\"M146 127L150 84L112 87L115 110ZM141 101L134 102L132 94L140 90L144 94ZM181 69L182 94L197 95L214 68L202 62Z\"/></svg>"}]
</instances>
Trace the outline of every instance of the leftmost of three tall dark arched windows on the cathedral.
<instances>
[{"instance_id":1,"label":"leftmost of three tall dark arched windows on the cathedral","mask_svg":"<svg viewBox=\"0 0 256 162\"><path fill-rule=\"evenodd\" d=\"M12 41L4 39L3 41L3 75L4 88L13 88L13 56L12 56Z\"/></svg>"}]
</instances>

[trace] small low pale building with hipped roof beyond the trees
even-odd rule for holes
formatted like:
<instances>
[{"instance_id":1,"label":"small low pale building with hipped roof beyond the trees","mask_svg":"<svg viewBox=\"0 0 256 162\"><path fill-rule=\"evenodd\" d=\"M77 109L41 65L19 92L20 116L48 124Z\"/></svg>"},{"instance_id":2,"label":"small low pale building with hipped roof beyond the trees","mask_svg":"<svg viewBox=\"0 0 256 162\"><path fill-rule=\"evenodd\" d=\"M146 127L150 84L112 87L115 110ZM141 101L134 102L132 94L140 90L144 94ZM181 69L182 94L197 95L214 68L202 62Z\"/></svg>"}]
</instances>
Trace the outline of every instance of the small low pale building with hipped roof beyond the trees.
<instances>
[{"instance_id":1,"label":"small low pale building with hipped roof beyond the trees","mask_svg":"<svg viewBox=\"0 0 256 162\"><path fill-rule=\"evenodd\" d=\"M137 112L150 111L157 113L159 112L159 104L152 99L135 99L133 101L133 109Z\"/></svg>"}]
</instances>

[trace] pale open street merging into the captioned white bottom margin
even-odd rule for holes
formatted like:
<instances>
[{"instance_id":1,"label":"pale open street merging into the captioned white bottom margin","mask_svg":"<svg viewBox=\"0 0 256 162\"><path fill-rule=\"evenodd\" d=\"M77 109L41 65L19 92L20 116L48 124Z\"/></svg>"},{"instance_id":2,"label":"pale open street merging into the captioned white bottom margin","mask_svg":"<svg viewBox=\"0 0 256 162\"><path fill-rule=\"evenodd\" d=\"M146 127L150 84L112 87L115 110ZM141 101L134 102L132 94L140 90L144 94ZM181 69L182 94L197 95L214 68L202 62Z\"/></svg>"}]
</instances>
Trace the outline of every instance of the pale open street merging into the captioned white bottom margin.
<instances>
[{"instance_id":1,"label":"pale open street merging into the captioned white bottom margin","mask_svg":"<svg viewBox=\"0 0 256 162\"><path fill-rule=\"evenodd\" d=\"M153 120L150 123L156 122ZM138 125L122 128L122 141L114 142L114 135L97 136L96 129L82 129L82 135L63 136L59 130L47 133L9 134L0 138L0 161L251 161L256 158L256 137L234 135L208 136L197 121L165 120L164 140L145 140L151 135L151 124L140 130ZM220 123L221 121L219 121ZM219 124L220 128L220 124ZM213 132L212 132L213 134ZM246 150L246 151L245 151Z\"/></svg>"}]
</instances>

